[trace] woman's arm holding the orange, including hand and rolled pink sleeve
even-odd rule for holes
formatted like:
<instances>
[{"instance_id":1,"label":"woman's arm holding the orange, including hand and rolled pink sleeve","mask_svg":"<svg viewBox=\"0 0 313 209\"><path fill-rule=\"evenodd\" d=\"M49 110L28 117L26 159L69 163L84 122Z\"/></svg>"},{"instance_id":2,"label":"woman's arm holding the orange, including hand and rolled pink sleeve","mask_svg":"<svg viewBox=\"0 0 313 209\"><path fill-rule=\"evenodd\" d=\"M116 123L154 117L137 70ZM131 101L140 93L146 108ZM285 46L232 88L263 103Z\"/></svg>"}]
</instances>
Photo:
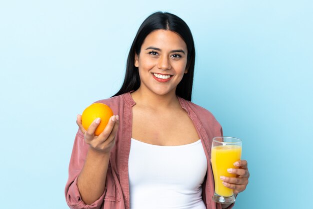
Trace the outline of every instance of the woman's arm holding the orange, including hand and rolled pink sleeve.
<instances>
[{"instance_id":1,"label":"woman's arm holding the orange, including hand and rolled pink sleeve","mask_svg":"<svg viewBox=\"0 0 313 209\"><path fill-rule=\"evenodd\" d=\"M103 132L95 136L94 131L99 122L93 121L89 128L84 130L81 116L77 116L76 123L81 131L80 135L83 134L83 140L81 136L80 140L76 136L69 164L65 195L71 208L84 208L86 204L92 205L90 208L98 208L103 201L101 196L104 195L110 150L115 144L118 116L112 116Z\"/></svg>"}]
</instances>

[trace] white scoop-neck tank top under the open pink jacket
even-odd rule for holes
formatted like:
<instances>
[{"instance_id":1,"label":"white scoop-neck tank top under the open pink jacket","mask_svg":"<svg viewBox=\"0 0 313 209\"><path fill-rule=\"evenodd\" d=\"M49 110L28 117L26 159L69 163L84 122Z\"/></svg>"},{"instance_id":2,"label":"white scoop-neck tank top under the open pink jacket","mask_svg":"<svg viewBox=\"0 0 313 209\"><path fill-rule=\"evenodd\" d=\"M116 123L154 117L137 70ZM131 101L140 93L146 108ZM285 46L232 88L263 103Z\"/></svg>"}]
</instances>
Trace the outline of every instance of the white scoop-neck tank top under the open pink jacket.
<instances>
[{"instance_id":1,"label":"white scoop-neck tank top under the open pink jacket","mask_svg":"<svg viewBox=\"0 0 313 209\"><path fill-rule=\"evenodd\" d=\"M206 170L200 139L191 144L158 146L131 138L130 209L205 209L201 184Z\"/></svg>"}]
</instances>

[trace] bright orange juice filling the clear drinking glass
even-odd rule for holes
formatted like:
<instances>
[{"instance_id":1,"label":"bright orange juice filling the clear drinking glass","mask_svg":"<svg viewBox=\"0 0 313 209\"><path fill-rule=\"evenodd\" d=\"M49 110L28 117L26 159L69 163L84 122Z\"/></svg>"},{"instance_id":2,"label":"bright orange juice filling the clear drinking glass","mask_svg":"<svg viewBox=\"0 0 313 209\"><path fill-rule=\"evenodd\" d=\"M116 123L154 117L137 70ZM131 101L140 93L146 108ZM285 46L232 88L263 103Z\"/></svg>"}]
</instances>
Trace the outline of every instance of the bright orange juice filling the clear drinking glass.
<instances>
[{"instance_id":1,"label":"bright orange juice filling the clear drinking glass","mask_svg":"<svg viewBox=\"0 0 313 209\"><path fill-rule=\"evenodd\" d=\"M233 163L240 160L241 146L219 145L211 149L211 163L214 175L215 193L220 196L231 196L233 190L222 184L220 176L236 177L236 174L227 172L227 168L235 168Z\"/></svg>"}]
</instances>

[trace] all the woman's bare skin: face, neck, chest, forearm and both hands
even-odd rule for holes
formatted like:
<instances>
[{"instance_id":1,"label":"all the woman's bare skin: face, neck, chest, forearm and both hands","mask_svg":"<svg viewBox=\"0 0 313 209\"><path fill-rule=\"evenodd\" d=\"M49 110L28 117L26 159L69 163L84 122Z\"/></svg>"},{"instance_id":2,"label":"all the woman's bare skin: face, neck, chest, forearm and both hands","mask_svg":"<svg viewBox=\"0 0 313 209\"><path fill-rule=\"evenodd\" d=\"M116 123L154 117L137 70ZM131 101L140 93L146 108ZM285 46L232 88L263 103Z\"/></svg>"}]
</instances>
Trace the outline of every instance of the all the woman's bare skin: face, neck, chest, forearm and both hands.
<instances>
[{"instance_id":1,"label":"all the woman's bare skin: face, neck, chest, forearm and both hands","mask_svg":"<svg viewBox=\"0 0 313 209\"><path fill-rule=\"evenodd\" d=\"M134 57L140 87L131 94L136 102L132 107L133 138L163 146L189 144L199 139L191 119L180 107L175 94L178 83L188 71L186 63L186 45L174 32L156 30L145 38L139 55ZM171 78L167 82L159 82L153 77L155 74ZM77 125L84 134L85 142L90 145L77 180L81 198L86 204L93 203L105 189L109 153L115 143L118 116L112 116L104 131L94 136L98 123L93 121L88 130L84 130L81 116L77 116ZM234 187L236 192L244 190L248 178L245 160L241 161L238 169L231 171L238 177L223 180L228 183L227 187ZM226 206L222 205L222 208Z\"/></svg>"}]
</instances>

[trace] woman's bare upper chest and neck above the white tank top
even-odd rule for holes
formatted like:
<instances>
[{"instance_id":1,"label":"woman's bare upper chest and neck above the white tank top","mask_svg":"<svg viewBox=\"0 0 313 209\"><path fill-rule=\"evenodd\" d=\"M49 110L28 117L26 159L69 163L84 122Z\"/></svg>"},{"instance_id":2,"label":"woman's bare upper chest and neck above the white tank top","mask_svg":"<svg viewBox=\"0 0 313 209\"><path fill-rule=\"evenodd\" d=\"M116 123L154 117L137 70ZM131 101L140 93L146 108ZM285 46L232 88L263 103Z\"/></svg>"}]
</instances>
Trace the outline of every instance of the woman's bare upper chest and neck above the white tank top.
<instances>
[{"instance_id":1,"label":"woman's bare upper chest and neck above the white tank top","mask_svg":"<svg viewBox=\"0 0 313 209\"><path fill-rule=\"evenodd\" d=\"M134 92L132 97L136 102L132 107L132 138L161 146L190 144L199 139L191 119L176 97L166 106L157 107L152 99L145 103L146 96L140 95L140 91Z\"/></svg>"}]
</instances>

